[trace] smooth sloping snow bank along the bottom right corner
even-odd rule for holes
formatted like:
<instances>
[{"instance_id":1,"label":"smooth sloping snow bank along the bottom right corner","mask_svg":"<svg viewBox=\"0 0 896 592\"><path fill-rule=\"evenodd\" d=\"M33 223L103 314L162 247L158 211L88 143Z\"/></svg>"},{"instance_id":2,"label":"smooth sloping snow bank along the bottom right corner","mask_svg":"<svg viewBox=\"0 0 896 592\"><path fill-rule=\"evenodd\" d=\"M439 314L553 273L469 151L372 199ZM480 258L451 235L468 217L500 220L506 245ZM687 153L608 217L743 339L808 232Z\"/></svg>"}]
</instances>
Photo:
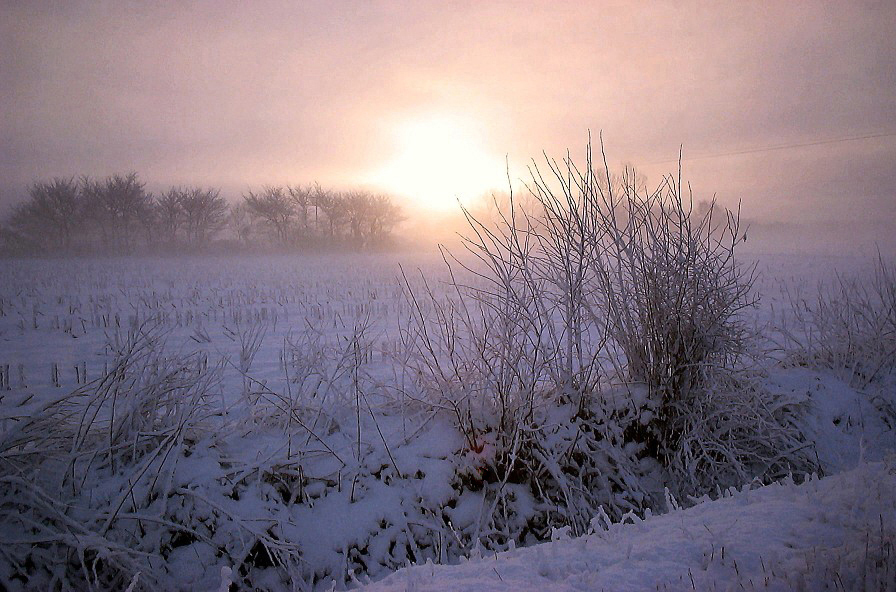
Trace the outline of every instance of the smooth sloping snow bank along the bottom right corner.
<instances>
[{"instance_id":1,"label":"smooth sloping snow bank along the bottom right corner","mask_svg":"<svg viewBox=\"0 0 896 592\"><path fill-rule=\"evenodd\" d=\"M891 457L579 538L407 567L365 590L892 590L894 546Z\"/></svg>"}]
</instances>

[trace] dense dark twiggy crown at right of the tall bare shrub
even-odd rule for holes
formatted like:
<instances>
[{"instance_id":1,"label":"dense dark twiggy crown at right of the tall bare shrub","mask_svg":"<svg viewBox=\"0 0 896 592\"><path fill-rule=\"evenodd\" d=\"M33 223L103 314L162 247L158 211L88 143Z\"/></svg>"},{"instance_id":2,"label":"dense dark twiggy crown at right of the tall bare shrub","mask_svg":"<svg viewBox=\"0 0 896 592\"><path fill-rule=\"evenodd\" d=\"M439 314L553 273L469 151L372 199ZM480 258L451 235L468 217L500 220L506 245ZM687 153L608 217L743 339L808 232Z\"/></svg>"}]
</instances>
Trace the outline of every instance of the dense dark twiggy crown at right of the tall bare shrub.
<instances>
[{"instance_id":1,"label":"dense dark twiggy crown at right of the tall bare shrub","mask_svg":"<svg viewBox=\"0 0 896 592\"><path fill-rule=\"evenodd\" d=\"M602 296L625 375L668 402L747 353L739 313L753 304L753 273L734 256L739 214L715 202L695 212L671 177L639 193L631 176L599 203Z\"/></svg>"}]
</instances>

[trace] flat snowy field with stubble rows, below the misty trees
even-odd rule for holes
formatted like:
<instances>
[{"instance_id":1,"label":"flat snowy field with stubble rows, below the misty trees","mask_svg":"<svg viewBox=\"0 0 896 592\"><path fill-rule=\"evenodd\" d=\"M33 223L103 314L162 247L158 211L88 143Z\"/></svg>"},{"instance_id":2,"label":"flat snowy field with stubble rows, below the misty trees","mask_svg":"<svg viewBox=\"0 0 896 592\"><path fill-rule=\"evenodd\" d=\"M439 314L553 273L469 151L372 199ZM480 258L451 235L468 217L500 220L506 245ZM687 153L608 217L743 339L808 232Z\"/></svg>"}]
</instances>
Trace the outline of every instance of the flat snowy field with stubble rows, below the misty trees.
<instances>
[{"instance_id":1,"label":"flat snowy field with stubble rows, below the misty trees","mask_svg":"<svg viewBox=\"0 0 896 592\"><path fill-rule=\"evenodd\" d=\"M170 348L238 363L253 327L264 334L253 376L282 379L284 340L368 320L379 359L403 312L399 263L440 273L419 255L5 261L0 366L11 386L72 387L101 374L110 343L141 326Z\"/></svg>"}]
</instances>

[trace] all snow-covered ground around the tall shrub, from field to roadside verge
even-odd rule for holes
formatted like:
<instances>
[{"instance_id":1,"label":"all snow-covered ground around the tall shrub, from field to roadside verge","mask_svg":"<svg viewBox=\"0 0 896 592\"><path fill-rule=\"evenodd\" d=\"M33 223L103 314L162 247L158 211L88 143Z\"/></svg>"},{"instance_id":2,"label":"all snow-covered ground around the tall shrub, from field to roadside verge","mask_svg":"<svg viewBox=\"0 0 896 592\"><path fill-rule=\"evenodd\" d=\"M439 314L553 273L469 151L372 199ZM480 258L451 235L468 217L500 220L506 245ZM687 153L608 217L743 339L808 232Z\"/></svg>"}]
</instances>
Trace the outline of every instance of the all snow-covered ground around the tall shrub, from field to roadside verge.
<instances>
[{"instance_id":1,"label":"all snow-covered ground around the tall shrub, from field to roadside verge","mask_svg":"<svg viewBox=\"0 0 896 592\"><path fill-rule=\"evenodd\" d=\"M449 299L438 255L4 261L0 582L893 589L893 383L857 384L783 337L805 330L782 320L795 296L870 267L758 259L751 315L772 351L755 374L802 410L823 476L678 509L649 459L613 457L594 434L598 469L626 467L634 493L614 475L605 492L533 493L494 474L494 434L469 441L407 364L417 309L402 282ZM536 413L551 441L538 466L588 437L571 406ZM600 511L583 521L563 499Z\"/></svg>"}]
</instances>

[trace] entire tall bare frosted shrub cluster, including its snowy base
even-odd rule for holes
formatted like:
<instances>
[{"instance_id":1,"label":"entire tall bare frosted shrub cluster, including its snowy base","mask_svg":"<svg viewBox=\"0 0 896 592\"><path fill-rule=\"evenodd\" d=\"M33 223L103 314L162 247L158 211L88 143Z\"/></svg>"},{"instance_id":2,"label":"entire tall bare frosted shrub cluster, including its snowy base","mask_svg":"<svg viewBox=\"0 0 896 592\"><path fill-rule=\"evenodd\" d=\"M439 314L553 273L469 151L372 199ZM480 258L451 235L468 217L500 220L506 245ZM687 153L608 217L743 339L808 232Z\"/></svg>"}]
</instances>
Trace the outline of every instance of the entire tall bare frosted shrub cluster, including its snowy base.
<instances>
[{"instance_id":1,"label":"entire tall bare frosted shrub cluster, including its snowy base","mask_svg":"<svg viewBox=\"0 0 896 592\"><path fill-rule=\"evenodd\" d=\"M590 146L584 167L531 171L492 221L465 211L450 298L405 278L411 376L469 451L493 450L484 484L563 507L533 514L544 534L653 503L661 478L642 461L678 494L813 469L799 406L745 371L754 275L735 258L739 213L695 211L680 179L648 192L633 171L613 177Z\"/></svg>"}]
</instances>

